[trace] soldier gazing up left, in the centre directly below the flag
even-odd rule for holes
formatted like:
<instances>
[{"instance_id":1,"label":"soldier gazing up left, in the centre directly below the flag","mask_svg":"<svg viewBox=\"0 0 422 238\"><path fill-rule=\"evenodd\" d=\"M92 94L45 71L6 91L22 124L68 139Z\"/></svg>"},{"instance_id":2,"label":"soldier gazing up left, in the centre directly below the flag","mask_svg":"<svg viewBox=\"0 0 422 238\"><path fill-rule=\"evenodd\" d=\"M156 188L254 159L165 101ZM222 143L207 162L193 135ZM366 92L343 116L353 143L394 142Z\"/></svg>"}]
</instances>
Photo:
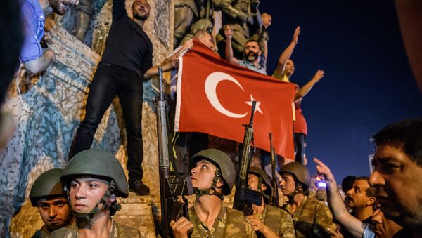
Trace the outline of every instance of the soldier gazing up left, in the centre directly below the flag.
<instances>
[{"instance_id":1,"label":"soldier gazing up left, in the centre directly below the flag","mask_svg":"<svg viewBox=\"0 0 422 238\"><path fill-rule=\"evenodd\" d=\"M191 221L181 217L170 222L174 237L256 237L241 211L223 206L236 179L231 159L222 151L207 149L192 157L191 178L196 193L189 209Z\"/></svg>"}]
</instances>

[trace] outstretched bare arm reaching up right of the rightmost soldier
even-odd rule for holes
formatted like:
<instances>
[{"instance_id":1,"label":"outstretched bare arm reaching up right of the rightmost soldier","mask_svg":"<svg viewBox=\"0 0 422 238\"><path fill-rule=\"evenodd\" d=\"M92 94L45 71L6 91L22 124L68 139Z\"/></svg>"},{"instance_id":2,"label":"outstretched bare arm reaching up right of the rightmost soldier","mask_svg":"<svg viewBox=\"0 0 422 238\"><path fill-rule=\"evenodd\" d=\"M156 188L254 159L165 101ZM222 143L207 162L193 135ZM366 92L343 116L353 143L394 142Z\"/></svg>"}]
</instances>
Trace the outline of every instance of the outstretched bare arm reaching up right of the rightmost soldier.
<instances>
[{"instance_id":1,"label":"outstretched bare arm reaching up right of the rightmost soldier","mask_svg":"<svg viewBox=\"0 0 422 238\"><path fill-rule=\"evenodd\" d=\"M316 171L320 176L324 177L327 185L328 206L330 206L333 216L343 225L354 237L362 237L364 234L365 224L347 212L343 199L338 192L337 183L335 182L333 173L319 159L314 158L316 163Z\"/></svg>"}]
</instances>

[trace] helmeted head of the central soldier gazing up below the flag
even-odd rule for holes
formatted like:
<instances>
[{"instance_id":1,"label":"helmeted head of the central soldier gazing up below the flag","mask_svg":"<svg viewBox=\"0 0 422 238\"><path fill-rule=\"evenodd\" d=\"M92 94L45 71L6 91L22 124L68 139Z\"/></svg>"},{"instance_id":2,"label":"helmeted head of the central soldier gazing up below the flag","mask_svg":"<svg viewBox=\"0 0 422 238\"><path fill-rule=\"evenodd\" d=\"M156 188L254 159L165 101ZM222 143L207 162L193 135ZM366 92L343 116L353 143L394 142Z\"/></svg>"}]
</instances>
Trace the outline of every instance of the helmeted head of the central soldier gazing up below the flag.
<instances>
[{"instance_id":1,"label":"helmeted head of the central soldier gazing up below the flag","mask_svg":"<svg viewBox=\"0 0 422 238\"><path fill-rule=\"evenodd\" d=\"M234 185L235 171L231 159L220 150L207 149L192 157L192 186L197 195L229 195ZM216 193L217 192L217 193Z\"/></svg>"}]
</instances>

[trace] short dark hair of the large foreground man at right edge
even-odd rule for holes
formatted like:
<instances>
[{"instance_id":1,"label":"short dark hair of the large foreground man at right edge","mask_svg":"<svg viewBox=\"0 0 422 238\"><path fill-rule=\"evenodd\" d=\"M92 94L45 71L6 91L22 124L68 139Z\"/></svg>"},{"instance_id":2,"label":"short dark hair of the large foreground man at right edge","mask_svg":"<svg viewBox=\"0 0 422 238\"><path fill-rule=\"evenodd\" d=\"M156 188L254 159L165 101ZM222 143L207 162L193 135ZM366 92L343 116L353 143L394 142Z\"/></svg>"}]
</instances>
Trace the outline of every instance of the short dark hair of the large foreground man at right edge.
<instances>
[{"instance_id":1,"label":"short dark hair of the large foreground man at right edge","mask_svg":"<svg viewBox=\"0 0 422 238\"><path fill-rule=\"evenodd\" d=\"M422 167L422 118L406 119L385 126L372 137L376 146L397 144L412 161Z\"/></svg>"}]
</instances>

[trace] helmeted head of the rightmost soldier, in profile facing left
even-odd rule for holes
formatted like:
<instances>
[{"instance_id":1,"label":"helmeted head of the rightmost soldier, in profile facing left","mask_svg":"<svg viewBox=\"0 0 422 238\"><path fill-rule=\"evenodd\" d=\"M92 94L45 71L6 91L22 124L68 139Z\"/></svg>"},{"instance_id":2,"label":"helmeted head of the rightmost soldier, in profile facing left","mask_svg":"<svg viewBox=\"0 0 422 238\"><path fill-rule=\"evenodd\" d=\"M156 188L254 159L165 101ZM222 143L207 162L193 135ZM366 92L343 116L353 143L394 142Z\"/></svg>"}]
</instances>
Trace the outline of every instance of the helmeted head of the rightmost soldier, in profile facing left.
<instances>
[{"instance_id":1,"label":"helmeted head of the rightmost soldier, in profile facing left","mask_svg":"<svg viewBox=\"0 0 422 238\"><path fill-rule=\"evenodd\" d=\"M281 174L281 192L284 196L290 198L296 194L309 194L309 186L311 185L311 175L307 168L298 162L285 164L280 168Z\"/></svg>"}]
</instances>

